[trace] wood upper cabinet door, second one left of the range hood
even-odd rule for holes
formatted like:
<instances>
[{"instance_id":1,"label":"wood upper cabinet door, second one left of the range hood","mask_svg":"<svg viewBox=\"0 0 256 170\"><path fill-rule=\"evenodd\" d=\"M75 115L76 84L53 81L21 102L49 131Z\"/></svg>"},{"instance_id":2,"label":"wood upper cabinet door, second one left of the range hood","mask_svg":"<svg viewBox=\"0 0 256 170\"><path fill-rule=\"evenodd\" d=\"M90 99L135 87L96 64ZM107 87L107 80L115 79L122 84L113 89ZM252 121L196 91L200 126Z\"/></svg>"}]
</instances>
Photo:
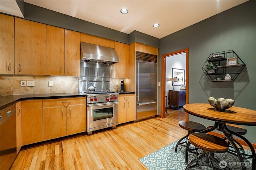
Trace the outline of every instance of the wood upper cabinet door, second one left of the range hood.
<instances>
[{"instance_id":1,"label":"wood upper cabinet door, second one left of the range hood","mask_svg":"<svg viewBox=\"0 0 256 170\"><path fill-rule=\"evenodd\" d=\"M64 29L46 26L46 74L64 76Z\"/></svg>"}]
</instances>

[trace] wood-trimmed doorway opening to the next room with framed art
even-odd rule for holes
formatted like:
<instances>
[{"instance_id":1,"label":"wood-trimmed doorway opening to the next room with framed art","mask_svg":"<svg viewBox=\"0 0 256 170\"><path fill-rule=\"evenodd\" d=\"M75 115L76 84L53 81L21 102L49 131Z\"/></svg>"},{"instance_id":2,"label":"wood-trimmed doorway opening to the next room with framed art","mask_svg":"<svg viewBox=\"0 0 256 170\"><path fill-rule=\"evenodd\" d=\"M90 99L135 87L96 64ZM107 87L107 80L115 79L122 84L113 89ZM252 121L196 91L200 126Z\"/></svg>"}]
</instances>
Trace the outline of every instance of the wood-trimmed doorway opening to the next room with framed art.
<instances>
[{"instance_id":1,"label":"wood-trimmed doorway opening to the next room with framed art","mask_svg":"<svg viewBox=\"0 0 256 170\"><path fill-rule=\"evenodd\" d=\"M167 57L175 57L177 55L186 55L185 69L175 68L175 67L180 67L178 65L175 67L174 67L174 65L170 65L170 64L168 66L166 66L166 63L168 63L168 62L166 62ZM172 68L170 68L170 67L172 67ZM181 74L182 74L182 72L184 72L184 77L176 76L173 74L174 72L172 72L171 75L166 74L166 68L168 68L169 70L171 69L172 71L174 70L177 72L181 72ZM167 81L167 80L172 80L172 78L174 78L174 77L178 78L178 81L175 81L175 83L174 82L171 83L171 82ZM168 82L168 83L166 83L166 82ZM160 117L164 118L166 116L166 109L167 109L166 107L168 106L168 97L166 97L166 96L168 96L168 94L166 95L166 93L168 93L167 88L168 89L172 88L174 90L178 90L178 89L180 89L181 84L186 85L186 104L188 104L188 90L189 90L189 87L188 87L188 48L162 55L161 84L162 84L162 88L161 88L161 115L160 115ZM187 113L186 113L186 120L188 120Z\"/></svg>"}]
</instances>

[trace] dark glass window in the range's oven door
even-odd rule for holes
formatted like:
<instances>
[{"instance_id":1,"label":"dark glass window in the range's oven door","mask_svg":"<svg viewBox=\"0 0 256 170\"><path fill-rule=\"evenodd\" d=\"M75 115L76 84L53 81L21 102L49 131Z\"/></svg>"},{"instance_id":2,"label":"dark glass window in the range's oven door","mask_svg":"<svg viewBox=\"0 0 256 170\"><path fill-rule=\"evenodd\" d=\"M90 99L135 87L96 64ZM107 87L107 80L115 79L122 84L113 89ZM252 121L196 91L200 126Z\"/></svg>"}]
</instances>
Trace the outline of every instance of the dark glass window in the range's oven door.
<instances>
[{"instance_id":1,"label":"dark glass window in the range's oven door","mask_svg":"<svg viewBox=\"0 0 256 170\"><path fill-rule=\"evenodd\" d=\"M93 109L93 121L113 117L113 107Z\"/></svg>"}]
</instances>

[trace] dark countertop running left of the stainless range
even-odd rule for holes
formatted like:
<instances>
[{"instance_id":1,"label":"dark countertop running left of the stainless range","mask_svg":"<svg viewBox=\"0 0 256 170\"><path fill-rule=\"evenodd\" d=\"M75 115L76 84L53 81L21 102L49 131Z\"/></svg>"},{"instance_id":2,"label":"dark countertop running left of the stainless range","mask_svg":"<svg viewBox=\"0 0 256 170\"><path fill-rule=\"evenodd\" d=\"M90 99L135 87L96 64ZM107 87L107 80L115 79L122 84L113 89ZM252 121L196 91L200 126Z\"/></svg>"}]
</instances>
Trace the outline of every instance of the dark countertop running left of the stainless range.
<instances>
[{"instance_id":1,"label":"dark countertop running left of the stainless range","mask_svg":"<svg viewBox=\"0 0 256 170\"><path fill-rule=\"evenodd\" d=\"M77 98L86 96L86 94L81 93L20 94L0 96L0 110L11 106L12 104L16 104L17 102L22 100Z\"/></svg>"}]
</instances>

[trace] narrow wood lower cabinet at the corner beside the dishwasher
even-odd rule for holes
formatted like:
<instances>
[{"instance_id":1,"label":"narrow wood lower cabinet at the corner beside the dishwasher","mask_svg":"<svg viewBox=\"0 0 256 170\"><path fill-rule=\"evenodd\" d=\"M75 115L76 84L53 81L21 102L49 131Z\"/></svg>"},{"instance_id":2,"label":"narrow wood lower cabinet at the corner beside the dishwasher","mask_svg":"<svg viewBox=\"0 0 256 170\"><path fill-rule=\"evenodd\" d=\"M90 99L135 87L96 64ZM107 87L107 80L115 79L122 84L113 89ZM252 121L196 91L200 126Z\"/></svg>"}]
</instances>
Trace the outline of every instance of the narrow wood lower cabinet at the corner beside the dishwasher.
<instances>
[{"instance_id":1,"label":"narrow wood lower cabinet at the corner beside the dishwasher","mask_svg":"<svg viewBox=\"0 0 256 170\"><path fill-rule=\"evenodd\" d=\"M17 154L22 147L22 111L21 102L16 103L16 147Z\"/></svg>"}]
</instances>

